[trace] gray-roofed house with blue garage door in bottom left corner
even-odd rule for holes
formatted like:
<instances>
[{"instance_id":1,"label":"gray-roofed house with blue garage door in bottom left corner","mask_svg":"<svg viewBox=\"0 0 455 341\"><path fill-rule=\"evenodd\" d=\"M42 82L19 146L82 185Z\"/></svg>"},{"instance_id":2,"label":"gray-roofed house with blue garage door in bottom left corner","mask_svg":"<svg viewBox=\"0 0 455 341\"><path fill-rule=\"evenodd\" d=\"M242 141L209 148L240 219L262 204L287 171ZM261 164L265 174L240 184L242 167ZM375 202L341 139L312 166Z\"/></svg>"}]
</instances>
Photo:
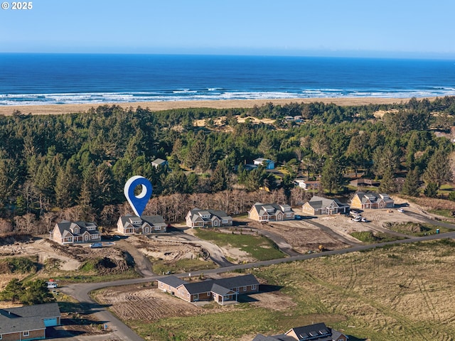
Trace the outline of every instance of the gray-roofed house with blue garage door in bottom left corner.
<instances>
[{"instance_id":1,"label":"gray-roofed house with blue garage door in bottom left corner","mask_svg":"<svg viewBox=\"0 0 455 341\"><path fill-rule=\"evenodd\" d=\"M43 340L45 328L60 325L57 303L0 309L0 340Z\"/></svg>"}]
</instances>

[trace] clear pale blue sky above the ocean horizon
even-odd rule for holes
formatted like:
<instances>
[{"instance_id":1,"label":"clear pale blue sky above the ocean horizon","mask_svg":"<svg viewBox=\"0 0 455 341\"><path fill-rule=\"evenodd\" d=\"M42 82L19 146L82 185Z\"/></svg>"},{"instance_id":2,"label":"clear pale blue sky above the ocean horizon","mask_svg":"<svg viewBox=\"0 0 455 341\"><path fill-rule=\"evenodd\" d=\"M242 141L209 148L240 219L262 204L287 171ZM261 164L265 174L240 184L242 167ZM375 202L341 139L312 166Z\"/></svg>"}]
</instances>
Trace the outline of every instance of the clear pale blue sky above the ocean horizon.
<instances>
[{"instance_id":1,"label":"clear pale blue sky above the ocean horizon","mask_svg":"<svg viewBox=\"0 0 455 341\"><path fill-rule=\"evenodd\" d=\"M455 58L454 0L0 2L0 53Z\"/></svg>"}]
</instances>

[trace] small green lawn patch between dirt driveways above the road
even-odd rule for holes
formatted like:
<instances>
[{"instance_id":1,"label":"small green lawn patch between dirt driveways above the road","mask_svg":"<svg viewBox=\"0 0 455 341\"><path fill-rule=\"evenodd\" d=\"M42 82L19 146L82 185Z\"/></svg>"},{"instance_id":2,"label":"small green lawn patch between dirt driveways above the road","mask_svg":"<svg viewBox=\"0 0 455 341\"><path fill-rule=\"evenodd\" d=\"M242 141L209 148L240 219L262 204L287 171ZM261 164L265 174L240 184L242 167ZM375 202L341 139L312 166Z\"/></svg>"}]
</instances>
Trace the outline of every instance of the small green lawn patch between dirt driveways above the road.
<instances>
[{"instance_id":1,"label":"small green lawn patch between dirt driveways above the road","mask_svg":"<svg viewBox=\"0 0 455 341\"><path fill-rule=\"evenodd\" d=\"M195 234L200 239L210 240L220 247L236 247L247 252L258 261L284 258L286 255L279 251L277 244L270 239L252 234L228 234L209 229L196 229Z\"/></svg>"}]
</instances>

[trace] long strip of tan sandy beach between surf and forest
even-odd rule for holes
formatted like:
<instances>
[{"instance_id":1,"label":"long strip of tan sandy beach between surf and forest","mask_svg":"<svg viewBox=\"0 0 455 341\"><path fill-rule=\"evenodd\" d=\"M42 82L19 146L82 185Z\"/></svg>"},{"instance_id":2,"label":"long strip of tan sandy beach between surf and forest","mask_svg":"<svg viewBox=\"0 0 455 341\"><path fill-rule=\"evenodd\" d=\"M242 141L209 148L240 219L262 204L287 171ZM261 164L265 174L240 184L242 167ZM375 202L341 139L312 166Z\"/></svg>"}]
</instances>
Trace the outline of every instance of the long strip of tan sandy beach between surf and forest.
<instances>
[{"instance_id":1,"label":"long strip of tan sandy beach between surf and forest","mask_svg":"<svg viewBox=\"0 0 455 341\"><path fill-rule=\"evenodd\" d=\"M429 99L430 101L437 97L422 97L418 100ZM188 101L156 101L156 102L112 102L112 103L87 103L87 104L35 104L35 105L9 105L0 106L0 115L11 116L14 111L18 110L22 114L47 115L47 114L73 114L86 112L91 108L97 108L101 105L118 105L124 109L132 107L149 108L152 112L169 109L185 108L213 108L213 109L231 109L231 108L252 108L255 105L260 107L266 103L274 105L284 105L294 103L314 103L323 102L325 104L336 104L339 106L355 106L368 104L400 104L408 102L410 98L394 97L324 97L324 98L289 98L289 99L215 99L215 100L188 100Z\"/></svg>"}]
</instances>

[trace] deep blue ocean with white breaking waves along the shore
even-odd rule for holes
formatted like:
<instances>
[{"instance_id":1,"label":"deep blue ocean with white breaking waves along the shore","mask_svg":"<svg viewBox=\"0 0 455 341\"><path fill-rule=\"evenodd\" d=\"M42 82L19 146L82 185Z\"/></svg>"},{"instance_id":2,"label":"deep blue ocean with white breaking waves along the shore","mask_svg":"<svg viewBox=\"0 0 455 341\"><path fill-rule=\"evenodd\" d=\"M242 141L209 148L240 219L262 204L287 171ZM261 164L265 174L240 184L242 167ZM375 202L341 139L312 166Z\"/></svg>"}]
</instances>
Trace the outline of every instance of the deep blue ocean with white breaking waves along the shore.
<instances>
[{"instance_id":1,"label":"deep blue ocean with white breaking waves along the shore","mask_svg":"<svg viewBox=\"0 0 455 341\"><path fill-rule=\"evenodd\" d=\"M455 95L455 60L0 54L0 105Z\"/></svg>"}]
</instances>

